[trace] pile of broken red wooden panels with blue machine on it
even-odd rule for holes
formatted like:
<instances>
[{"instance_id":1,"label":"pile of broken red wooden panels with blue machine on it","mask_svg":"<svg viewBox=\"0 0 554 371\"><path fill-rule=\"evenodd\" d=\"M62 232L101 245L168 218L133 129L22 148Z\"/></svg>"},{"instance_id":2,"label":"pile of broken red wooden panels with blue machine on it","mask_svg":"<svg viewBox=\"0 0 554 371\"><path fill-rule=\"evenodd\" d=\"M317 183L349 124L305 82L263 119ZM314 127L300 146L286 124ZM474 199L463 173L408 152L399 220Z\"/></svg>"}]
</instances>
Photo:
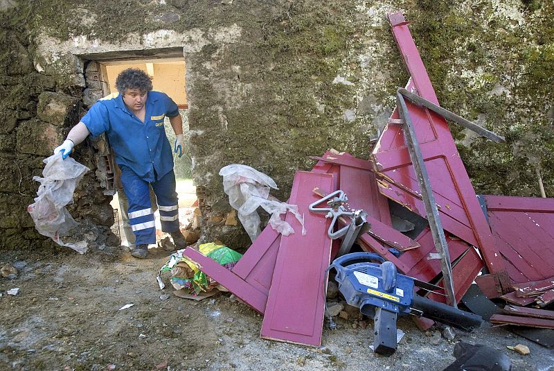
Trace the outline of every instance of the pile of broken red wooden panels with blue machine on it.
<instances>
[{"instance_id":1,"label":"pile of broken red wooden panels with blue machine on it","mask_svg":"<svg viewBox=\"0 0 554 371\"><path fill-rule=\"evenodd\" d=\"M321 345L325 312L331 324L346 313L326 305L333 262L346 302L374 318L376 337L386 335L377 320L406 313L421 329L434 320L471 329L481 318L458 311L463 302L493 325L549 329L524 336L552 346L544 339L554 329L554 199L476 195L446 119L503 137L438 106L404 16L388 17L411 78L370 159L333 150L313 157L288 200L303 225L292 214L284 220L294 234L268 225L230 270L193 248L184 254L264 315L262 338Z\"/></svg>"}]
</instances>

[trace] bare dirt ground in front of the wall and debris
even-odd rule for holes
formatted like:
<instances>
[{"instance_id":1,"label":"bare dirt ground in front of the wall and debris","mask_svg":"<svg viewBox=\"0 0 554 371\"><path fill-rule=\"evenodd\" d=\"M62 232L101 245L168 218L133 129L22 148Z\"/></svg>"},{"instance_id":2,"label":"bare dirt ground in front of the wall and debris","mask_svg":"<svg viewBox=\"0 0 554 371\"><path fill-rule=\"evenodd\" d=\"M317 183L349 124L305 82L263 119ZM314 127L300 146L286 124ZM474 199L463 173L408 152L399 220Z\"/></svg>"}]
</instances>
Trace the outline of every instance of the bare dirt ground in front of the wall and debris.
<instances>
[{"instance_id":1,"label":"bare dirt ground in front of the wall and debris","mask_svg":"<svg viewBox=\"0 0 554 371\"><path fill-rule=\"evenodd\" d=\"M457 333L454 341L411 320L393 356L368 349L373 341L356 322L325 327L321 348L262 340L262 317L221 293L200 302L160 290L157 271L170 254L150 250L137 260L121 248L80 255L2 252L19 277L0 278L1 370L443 370L457 341L490 345L508 354L513 370L554 370L554 352L502 328ZM2 264L3 264L2 263ZM167 278L167 277L166 277ZM17 296L6 295L19 288ZM168 298L164 297L163 294ZM118 310L125 304L134 304ZM507 345L527 345L521 356Z\"/></svg>"}]
</instances>

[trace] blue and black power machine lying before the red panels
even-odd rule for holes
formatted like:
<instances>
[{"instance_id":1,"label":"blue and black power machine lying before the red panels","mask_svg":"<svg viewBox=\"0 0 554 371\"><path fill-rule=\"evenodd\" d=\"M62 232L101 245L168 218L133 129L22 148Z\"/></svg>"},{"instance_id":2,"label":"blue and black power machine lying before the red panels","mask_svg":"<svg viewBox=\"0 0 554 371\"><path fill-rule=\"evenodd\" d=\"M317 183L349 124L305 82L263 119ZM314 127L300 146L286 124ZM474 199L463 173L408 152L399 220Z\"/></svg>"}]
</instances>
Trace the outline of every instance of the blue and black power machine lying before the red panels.
<instances>
[{"instance_id":1,"label":"blue and black power machine lying before the red panels","mask_svg":"<svg viewBox=\"0 0 554 371\"><path fill-rule=\"evenodd\" d=\"M376 353L390 355L395 352L397 316L423 316L465 331L472 331L483 322L481 316L415 294L416 284L434 285L397 273L393 263L377 254L346 254L335 259L328 269L332 268L337 270L334 279L346 302L373 318L373 350Z\"/></svg>"}]
</instances>

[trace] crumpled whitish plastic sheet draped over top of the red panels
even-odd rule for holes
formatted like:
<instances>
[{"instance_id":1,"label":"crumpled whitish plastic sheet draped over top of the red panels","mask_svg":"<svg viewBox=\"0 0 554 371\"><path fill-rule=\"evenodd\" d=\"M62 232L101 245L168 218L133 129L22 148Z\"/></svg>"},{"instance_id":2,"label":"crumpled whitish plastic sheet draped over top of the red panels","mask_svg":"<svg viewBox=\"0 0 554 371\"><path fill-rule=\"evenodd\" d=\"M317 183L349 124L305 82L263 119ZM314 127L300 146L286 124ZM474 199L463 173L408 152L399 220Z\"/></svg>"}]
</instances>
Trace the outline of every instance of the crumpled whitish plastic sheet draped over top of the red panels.
<instances>
[{"instance_id":1,"label":"crumpled whitish plastic sheet draped over top of the red panels","mask_svg":"<svg viewBox=\"0 0 554 371\"><path fill-rule=\"evenodd\" d=\"M298 206L285 202L267 200L271 188L278 189L273 179L247 165L231 164L222 167L223 189L229 195L229 204L237 210L238 218L252 242L260 234L260 216L256 212L263 207L271 214L269 225L274 230L288 236L294 233L289 223L281 219L281 214L292 212L302 225L302 235L306 234L304 218L298 213Z\"/></svg>"}]
</instances>

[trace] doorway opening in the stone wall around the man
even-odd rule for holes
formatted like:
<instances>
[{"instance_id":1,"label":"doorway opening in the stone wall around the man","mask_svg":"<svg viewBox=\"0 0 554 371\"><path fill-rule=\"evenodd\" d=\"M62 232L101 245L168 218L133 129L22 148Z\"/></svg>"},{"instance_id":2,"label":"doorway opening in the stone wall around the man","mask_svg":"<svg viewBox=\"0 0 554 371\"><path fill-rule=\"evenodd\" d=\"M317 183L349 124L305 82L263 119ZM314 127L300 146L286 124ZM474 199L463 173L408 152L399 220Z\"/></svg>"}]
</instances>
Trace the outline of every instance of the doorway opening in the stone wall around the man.
<instances>
[{"instance_id":1,"label":"doorway opening in the stone wall around the man","mask_svg":"<svg viewBox=\"0 0 554 371\"><path fill-rule=\"evenodd\" d=\"M159 58L159 59L136 59L136 60L102 60L98 61L99 71L98 79L101 82L100 92L97 95L108 96L109 94L117 93L115 87L116 78L118 74L128 68L141 69L152 78L153 89L158 92L168 94L179 107L179 113L183 118L183 134L184 134L184 148L183 155L177 157L174 154L174 171L175 178L177 178L177 194L179 196L179 223L181 231L184 232L188 243L193 243L195 235L198 233L190 233L193 230L198 229L198 223L195 221L195 216L198 214L195 212L197 206L196 189L193 184L191 168L192 159L190 157L190 137L188 130L188 104L186 101L186 64L184 58ZM90 76L87 76L89 80ZM169 119L166 117L164 122L166 129L166 135L168 140L173 146L175 143L175 132L170 125ZM107 161L108 162L108 161ZM134 234L132 233L127 218L127 198L123 192L123 187L120 186L118 181L119 171L115 164L114 158L109 158L111 166L107 166L107 169L112 170L113 173L113 188L114 198L111 201L111 207L118 210L115 220L115 227L112 230L119 230L120 242L122 245L132 247L134 241ZM109 177L108 177L109 178ZM150 189L150 200L152 203L152 209L155 209L154 220L156 223L156 236L157 243L160 246L170 250L172 244L168 243L169 239L161 232L161 222L159 211L157 210L156 198L152 189Z\"/></svg>"}]
</instances>

